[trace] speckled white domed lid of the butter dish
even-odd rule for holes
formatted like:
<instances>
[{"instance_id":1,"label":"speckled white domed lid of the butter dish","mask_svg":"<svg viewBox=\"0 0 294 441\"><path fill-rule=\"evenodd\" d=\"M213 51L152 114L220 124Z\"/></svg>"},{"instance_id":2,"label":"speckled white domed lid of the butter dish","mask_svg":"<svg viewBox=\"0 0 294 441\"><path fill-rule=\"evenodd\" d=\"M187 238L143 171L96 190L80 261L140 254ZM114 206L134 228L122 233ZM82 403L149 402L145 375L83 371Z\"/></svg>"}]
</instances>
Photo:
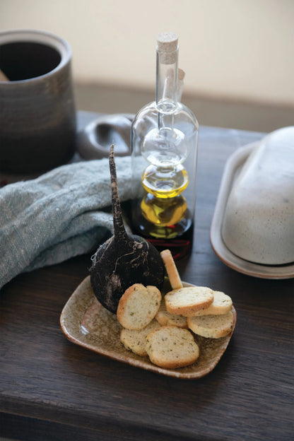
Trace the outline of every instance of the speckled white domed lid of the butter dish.
<instances>
[{"instance_id":1,"label":"speckled white domed lid of the butter dish","mask_svg":"<svg viewBox=\"0 0 294 441\"><path fill-rule=\"evenodd\" d=\"M264 136L230 190L223 242L262 265L294 262L294 127Z\"/></svg>"}]
</instances>

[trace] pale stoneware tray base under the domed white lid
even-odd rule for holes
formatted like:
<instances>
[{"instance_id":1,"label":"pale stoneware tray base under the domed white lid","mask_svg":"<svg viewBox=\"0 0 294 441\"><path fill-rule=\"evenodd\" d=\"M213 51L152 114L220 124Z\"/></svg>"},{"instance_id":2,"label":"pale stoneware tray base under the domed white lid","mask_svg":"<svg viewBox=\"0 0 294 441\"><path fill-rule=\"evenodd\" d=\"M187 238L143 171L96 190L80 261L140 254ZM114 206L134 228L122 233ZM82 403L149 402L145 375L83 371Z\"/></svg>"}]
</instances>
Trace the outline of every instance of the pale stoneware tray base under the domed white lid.
<instances>
[{"instance_id":1,"label":"pale stoneware tray base under the domed white lid","mask_svg":"<svg viewBox=\"0 0 294 441\"><path fill-rule=\"evenodd\" d=\"M216 202L216 208L211 223L211 246L220 260L222 260L226 265L230 266L230 268L233 268L240 273L259 278L293 278L294 263L285 265L255 264L237 257L223 242L223 216L230 190L233 187L235 180L240 175L242 167L245 164L249 154L256 146L257 143L251 143L247 146L239 148L235 153L233 153L233 155L230 156L225 165L223 178L220 183L218 200Z\"/></svg>"}]
</instances>

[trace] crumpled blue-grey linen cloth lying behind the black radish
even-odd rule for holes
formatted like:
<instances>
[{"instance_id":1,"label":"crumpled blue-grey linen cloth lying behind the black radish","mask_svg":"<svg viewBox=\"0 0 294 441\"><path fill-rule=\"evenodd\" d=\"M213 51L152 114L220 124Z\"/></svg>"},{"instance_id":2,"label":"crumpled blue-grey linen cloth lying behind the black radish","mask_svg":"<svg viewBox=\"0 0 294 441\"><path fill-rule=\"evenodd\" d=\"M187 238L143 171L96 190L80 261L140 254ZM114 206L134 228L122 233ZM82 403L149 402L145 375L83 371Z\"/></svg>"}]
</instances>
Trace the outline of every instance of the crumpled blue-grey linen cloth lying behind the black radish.
<instances>
[{"instance_id":1,"label":"crumpled blue-grey linen cloth lying behind the black radish","mask_svg":"<svg viewBox=\"0 0 294 441\"><path fill-rule=\"evenodd\" d=\"M116 158L121 201L131 158ZM17 274L86 254L112 234L107 159L58 167L0 190L0 289Z\"/></svg>"}]
</instances>

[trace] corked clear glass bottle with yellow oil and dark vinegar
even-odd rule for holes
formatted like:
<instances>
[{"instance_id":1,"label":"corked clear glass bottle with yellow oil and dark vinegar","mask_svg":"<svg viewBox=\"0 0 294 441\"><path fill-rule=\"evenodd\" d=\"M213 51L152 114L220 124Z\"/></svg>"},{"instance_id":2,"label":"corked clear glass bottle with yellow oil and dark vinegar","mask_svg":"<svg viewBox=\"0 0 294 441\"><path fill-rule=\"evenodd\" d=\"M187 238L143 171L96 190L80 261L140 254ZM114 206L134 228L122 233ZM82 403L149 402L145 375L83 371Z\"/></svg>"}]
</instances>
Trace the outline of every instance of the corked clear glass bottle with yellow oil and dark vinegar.
<instances>
[{"instance_id":1,"label":"corked clear glass bottle with yellow oil and dark vinegar","mask_svg":"<svg viewBox=\"0 0 294 441\"><path fill-rule=\"evenodd\" d=\"M179 99L177 41L174 33L158 35L156 98L131 126L132 229L159 250L169 248L175 259L192 245L199 131Z\"/></svg>"}]
</instances>

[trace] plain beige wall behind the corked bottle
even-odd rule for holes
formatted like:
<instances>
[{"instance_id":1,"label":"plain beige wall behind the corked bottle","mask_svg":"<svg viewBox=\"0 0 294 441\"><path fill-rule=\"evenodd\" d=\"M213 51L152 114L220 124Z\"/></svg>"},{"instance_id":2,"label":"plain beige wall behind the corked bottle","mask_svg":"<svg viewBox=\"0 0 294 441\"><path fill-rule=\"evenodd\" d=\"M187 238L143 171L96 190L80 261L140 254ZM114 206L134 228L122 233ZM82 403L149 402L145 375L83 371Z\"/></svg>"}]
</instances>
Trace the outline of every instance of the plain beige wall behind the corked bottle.
<instances>
[{"instance_id":1,"label":"plain beige wall behind the corked bottle","mask_svg":"<svg viewBox=\"0 0 294 441\"><path fill-rule=\"evenodd\" d=\"M0 29L64 37L77 83L153 89L156 36L179 35L185 93L294 103L294 0L0 0Z\"/></svg>"}]
</instances>

